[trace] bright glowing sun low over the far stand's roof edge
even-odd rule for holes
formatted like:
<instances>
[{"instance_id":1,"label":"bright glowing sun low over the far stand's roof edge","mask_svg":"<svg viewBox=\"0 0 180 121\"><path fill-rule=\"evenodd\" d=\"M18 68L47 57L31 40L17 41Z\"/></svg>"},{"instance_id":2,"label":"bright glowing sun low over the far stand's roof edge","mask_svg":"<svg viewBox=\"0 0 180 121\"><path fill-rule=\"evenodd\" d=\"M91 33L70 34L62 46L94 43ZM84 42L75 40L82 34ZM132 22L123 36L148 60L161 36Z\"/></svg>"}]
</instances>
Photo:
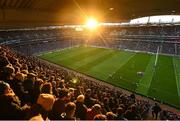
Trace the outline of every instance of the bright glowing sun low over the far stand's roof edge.
<instances>
[{"instance_id":1,"label":"bright glowing sun low over the far stand's roof edge","mask_svg":"<svg viewBox=\"0 0 180 121\"><path fill-rule=\"evenodd\" d=\"M86 27L90 30L94 30L96 29L98 26L98 22L95 18L89 18L87 21L86 21Z\"/></svg>"}]
</instances>

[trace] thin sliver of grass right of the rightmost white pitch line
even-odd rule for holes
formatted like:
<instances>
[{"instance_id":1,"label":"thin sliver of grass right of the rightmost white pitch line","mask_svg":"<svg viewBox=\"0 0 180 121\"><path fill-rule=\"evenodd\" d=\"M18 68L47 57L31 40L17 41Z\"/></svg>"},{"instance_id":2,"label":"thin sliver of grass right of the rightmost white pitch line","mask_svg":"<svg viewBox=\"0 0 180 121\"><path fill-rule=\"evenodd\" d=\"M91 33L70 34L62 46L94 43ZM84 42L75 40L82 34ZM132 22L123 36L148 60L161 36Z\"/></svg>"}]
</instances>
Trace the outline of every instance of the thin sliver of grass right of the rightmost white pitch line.
<instances>
[{"instance_id":1,"label":"thin sliver of grass right of the rightmost white pitch line","mask_svg":"<svg viewBox=\"0 0 180 121\"><path fill-rule=\"evenodd\" d=\"M178 57L173 58L174 72L176 77L177 92L180 102L180 59Z\"/></svg>"}]
</instances>

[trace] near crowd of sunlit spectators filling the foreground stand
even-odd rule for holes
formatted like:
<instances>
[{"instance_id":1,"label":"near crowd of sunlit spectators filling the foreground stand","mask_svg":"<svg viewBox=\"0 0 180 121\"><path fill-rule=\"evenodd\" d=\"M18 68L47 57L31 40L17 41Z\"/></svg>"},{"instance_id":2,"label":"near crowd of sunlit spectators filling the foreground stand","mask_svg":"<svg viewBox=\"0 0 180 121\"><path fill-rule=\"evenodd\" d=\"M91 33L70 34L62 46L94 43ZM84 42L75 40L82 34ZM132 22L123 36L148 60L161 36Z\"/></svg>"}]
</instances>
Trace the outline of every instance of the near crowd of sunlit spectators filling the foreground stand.
<instances>
[{"instance_id":1,"label":"near crowd of sunlit spectators filling the foreground stand","mask_svg":"<svg viewBox=\"0 0 180 121\"><path fill-rule=\"evenodd\" d=\"M73 81L76 80L76 81ZM0 46L1 120L180 120L158 104Z\"/></svg>"}]
</instances>

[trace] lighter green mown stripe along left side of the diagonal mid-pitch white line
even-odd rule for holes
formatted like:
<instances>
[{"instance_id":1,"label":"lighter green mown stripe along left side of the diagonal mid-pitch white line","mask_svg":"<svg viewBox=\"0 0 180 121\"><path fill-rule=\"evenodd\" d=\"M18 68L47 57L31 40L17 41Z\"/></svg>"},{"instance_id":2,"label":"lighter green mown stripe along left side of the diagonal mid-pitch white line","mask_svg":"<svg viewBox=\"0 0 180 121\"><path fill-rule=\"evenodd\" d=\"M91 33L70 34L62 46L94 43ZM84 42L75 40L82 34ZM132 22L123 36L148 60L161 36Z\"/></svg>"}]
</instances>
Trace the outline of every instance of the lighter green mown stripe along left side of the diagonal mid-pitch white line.
<instances>
[{"instance_id":1,"label":"lighter green mown stripe along left side of the diagonal mid-pitch white line","mask_svg":"<svg viewBox=\"0 0 180 121\"><path fill-rule=\"evenodd\" d=\"M106 82L109 75L121 68L135 53L118 51L111 58L99 63L88 71L88 74Z\"/></svg>"}]
</instances>

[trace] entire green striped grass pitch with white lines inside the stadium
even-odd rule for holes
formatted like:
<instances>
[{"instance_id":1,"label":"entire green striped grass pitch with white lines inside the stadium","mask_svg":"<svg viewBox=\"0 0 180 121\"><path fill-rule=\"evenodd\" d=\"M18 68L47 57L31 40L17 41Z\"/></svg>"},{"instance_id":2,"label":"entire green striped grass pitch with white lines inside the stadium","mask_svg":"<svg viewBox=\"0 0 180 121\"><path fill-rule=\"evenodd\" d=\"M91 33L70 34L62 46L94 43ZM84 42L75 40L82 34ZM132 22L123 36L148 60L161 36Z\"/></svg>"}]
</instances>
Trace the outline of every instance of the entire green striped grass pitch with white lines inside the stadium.
<instances>
[{"instance_id":1,"label":"entire green striped grass pitch with white lines inside the stadium","mask_svg":"<svg viewBox=\"0 0 180 121\"><path fill-rule=\"evenodd\" d=\"M95 47L74 47L39 56L49 62L180 108L180 59ZM137 72L144 72L143 76Z\"/></svg>"}]
</instances>

